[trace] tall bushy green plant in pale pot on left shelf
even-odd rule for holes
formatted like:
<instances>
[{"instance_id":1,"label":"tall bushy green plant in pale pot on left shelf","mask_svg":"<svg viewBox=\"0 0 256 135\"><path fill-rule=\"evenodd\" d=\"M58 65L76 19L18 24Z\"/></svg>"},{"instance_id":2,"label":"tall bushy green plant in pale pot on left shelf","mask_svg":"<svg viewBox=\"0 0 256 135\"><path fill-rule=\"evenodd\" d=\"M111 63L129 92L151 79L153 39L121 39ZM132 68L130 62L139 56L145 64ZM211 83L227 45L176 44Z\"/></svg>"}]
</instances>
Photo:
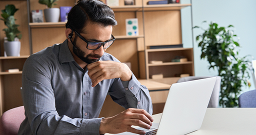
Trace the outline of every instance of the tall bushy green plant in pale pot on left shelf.
<instances>
[{"instance_id":1,"label":"tall bushy green plant in pale pot on left shelf","mask_svg":"<svg viewBox=\"0 0 256 135\"><path fill-rule=\"evenodd\" d=\"M19 56L20 52L20 41L18 39L21 38L22 34L17 29L19 26L18 24L15 24L15 18L14 13L18 9L15 8L13 4L7 4L5 5L5 9L1 10L2 14L1 20L4 21L4 24L7 26L7 28L4 28L3 31L5 32L5 35L7 37L7 40L4 41L4 51L7 56Z\"/></svg>"}]
</instances>

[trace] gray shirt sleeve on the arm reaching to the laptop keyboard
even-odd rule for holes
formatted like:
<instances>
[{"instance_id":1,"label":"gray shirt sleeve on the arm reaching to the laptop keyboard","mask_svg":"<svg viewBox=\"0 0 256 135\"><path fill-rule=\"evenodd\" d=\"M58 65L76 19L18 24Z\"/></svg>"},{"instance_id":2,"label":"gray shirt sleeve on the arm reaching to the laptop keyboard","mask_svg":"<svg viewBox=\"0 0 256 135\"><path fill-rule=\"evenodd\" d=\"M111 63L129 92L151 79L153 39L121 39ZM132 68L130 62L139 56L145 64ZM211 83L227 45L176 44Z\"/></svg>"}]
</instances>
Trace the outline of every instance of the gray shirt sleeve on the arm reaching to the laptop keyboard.
<instances>
[{"instance_id":1,"label":"gray shirt sleeve on the arm reaching to the laptop keyboard","mask_svg":"<svg viewBox=\"0 0 256 135\"><path fill-rule=\"evenodd\" d=\"M47 66L43 61L31 58L24 63L21 94L26 115L24 121L27 123L22 123L20 129L31 131L23 131L22 134L99 134L102 118L83 119L58 115L50 83L52 71Z\"/></svg>"}]
</instances>

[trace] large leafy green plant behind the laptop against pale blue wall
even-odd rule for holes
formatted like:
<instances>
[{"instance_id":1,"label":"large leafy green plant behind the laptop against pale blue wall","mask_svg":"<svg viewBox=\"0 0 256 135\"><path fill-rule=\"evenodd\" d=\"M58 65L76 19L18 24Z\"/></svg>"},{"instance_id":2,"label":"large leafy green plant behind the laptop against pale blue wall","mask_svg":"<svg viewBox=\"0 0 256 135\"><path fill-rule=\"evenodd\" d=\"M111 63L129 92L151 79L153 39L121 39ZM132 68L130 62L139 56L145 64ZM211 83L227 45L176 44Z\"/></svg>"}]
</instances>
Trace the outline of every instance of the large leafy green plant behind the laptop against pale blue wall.
<instances>
[{"instance_id":1,"label":"large leafy green plant behind the laptop against pale blue wall","mask_svg":"<svg viewBox=\"0 0 256 135\"><path fill-rule=\"evenodd\" d=\"M193 28L196 27L199 26ZM230 29L232 27L218 27L217 23L210 22L208 29L203 29L204 32L196 36L198 46L201 47L201 59L207 58L209 69L215 67L221 76L219 104L222 107L238 106L242 85L250 86L248 70L251 63L247 56L238 57L239 43Z\"/></svg>"}]
</instances>

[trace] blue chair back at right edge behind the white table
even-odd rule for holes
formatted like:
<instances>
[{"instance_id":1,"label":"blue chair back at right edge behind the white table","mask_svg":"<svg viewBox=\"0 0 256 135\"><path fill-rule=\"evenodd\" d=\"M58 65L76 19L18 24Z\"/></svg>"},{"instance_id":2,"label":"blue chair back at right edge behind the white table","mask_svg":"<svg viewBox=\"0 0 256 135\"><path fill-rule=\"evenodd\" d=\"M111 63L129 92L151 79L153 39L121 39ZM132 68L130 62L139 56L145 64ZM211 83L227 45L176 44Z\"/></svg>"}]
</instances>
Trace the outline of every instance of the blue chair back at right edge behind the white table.
<instances>
[{"instance_id":1,"label":"blue chair back at right edge behind the white table","mask_svg":"<svg viewBox=\"0 0 256 135\"><path fill-rule=\"evenodd\" d=\"M238 97L239 107L256 107L256 89L246 91Z\"/></svg>"}]
</instances>

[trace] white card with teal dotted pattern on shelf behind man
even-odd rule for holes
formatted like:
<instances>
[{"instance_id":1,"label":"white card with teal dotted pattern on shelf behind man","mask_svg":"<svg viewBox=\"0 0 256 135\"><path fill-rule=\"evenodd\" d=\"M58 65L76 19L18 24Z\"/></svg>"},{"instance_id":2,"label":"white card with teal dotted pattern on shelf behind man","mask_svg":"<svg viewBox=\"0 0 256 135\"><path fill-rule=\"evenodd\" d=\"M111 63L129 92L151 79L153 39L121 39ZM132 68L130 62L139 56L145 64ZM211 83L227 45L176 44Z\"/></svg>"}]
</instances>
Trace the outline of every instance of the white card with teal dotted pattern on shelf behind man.
<instances>
[{"instance_id":1,"label":"white card with teal dotted pattern on shelf behind man","mask_svg":"<svg viewBox=\"0 0 256 135\"><path fill-rule=\"evenodd\" d=\"M138 35L138 18L125 19L126 35Z\"/></svg>"}]
</instances>

